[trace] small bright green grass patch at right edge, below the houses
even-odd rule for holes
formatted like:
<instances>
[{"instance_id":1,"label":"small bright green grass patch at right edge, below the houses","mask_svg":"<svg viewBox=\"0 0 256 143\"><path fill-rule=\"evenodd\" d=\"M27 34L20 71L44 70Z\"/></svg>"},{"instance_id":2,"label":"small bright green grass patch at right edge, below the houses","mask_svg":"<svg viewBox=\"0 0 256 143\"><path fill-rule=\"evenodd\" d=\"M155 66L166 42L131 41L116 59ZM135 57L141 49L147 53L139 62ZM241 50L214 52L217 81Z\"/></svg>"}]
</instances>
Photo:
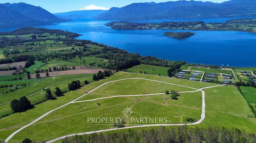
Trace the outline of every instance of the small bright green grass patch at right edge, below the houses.
<instances>
[{"instance_id":1,"label":"small bright green grass patch at right edge, below the houses","mask_svg":"<svg viewBox=\"0 0 256 143\"><path fill-rule=\"evenodd\" d=\"M248 103L256 103L256 88L240 87Z\"/></svg>"}]
</instances>

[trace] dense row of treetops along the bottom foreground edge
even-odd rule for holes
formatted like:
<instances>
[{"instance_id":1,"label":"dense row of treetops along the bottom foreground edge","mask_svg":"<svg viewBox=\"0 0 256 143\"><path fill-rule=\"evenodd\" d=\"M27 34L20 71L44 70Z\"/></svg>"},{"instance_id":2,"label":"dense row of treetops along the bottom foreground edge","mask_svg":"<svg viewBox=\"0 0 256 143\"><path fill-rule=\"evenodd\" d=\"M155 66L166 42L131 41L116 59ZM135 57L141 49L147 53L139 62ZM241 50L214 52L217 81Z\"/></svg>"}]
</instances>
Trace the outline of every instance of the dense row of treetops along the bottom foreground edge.
<instances>
[{"instance_id":1,"label":"dense row of treetops along the bottom foreground edge","mask_svg":"<svg viewBox=\"0 0 256 143\"><path fill-rule=\"evenodd\" d=\"M187 126L160 127L157 129L131 130L108 133L108 134L88 134L76 135L62 139L62 143L70 142L205 142L205 143L224 143L224 142L255 142L255 134L246 134L239 129L225 129L220 127L208 128L188 128Z\"/></svg>"}]
</instances>

